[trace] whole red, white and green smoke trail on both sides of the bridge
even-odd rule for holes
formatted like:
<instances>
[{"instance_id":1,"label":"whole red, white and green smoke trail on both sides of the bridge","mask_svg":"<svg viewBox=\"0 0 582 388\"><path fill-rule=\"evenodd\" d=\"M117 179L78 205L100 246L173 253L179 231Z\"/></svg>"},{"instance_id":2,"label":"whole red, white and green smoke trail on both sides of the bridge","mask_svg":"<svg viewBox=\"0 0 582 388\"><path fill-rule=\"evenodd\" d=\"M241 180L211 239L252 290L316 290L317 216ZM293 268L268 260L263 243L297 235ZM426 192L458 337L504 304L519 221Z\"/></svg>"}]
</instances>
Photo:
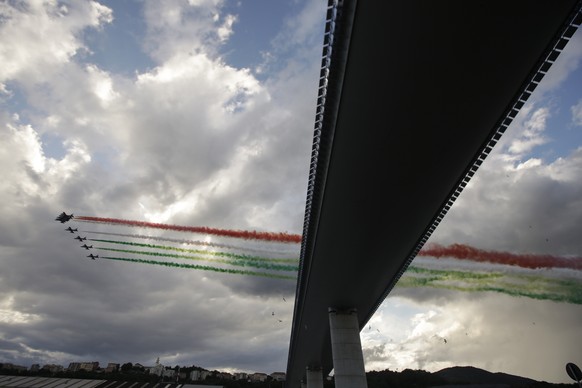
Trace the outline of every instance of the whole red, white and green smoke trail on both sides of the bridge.
<instances>
[{"instance_id":1,"label":"whole red, white and green smoke trail on both sides of the bridge","mask_svg":"<svg viewBox=\"0 0 582 388\"><path fill-rule=\"evenodd\" d=\"M296 279L297 276L300 235L177 226L89 216L78 216L73 221L232 238L232 240L222 239L224 241L217 238L219 241L210 242L112 231L86 231L96 235L119 237L119 239L89 239L99 245L95 249L119 252L127 256L103 257L109 260L279 279ZM144 243L144 240L165 243L148 244ZM191 247L193 249L188 249L185 245L194 246ZM151 260L149 259L151 257L158 257L160 260ZM163 258L168 261L162 261ZM204 261L209 265L188 264L187 261L191 260ZM463 244L444 246L433 243L419 252L418 257L399 280L397 287L499 292L516 297L582 304L582 257L519 254L484 250Z\"/></svg>"}]
</instances>

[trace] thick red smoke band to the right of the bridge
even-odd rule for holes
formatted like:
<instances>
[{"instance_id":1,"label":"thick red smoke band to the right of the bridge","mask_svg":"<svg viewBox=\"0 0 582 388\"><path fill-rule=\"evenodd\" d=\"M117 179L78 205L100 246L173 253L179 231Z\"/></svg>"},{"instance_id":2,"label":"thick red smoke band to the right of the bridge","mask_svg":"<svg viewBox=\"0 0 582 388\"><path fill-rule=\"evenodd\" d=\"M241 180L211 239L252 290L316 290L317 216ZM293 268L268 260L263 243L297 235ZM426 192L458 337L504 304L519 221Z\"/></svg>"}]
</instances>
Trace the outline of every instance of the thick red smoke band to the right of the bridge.
<instances>
[{"instance_id":1,"label":"thick red smoke band to the right of the bridge","mask_svg":"<svg viewBox=\"0 0 582 388\"><path fill-rule=\"evenodd\" d=\"M451 257L461 260L514 265L523 268L569 268L582 270L582 257L557 257L552 255L517 254L510 252L486 251L463 244L442 246L430 244L418 253L419 256L434 258Z\"/></svg>"}]
</instances>

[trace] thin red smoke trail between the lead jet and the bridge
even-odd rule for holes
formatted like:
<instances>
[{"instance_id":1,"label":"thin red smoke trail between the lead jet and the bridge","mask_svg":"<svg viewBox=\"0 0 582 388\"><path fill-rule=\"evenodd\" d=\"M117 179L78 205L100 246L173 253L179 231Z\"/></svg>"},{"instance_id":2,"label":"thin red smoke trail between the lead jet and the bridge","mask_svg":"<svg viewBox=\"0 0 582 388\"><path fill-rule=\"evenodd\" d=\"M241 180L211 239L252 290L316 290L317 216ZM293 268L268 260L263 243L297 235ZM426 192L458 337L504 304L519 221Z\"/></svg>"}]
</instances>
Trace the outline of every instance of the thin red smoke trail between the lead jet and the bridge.
<instances>
[{"instance_id":1,"label":"thin red smoke trail between the lead jet and the bridge","mask_svg":"<svg viewBox=\"0 0 582 388\"><path fill-rule=\"evenodd\" d=\"M113 224L113 225L138 226L138 227L142 227L142 228L175 230L178 232L213 234L213 235L217 235L217 236L242 238L242 239L247 239L247 240L266 240L266 241L278 241L278 242L284 242L284 243L299 243L299 242L301 242L301 235L299 235L299 234L257 232L254 230L247 231L247 230L216 229L216 228L209 228L206 226L168 225L168 224L158 224L158 223L154 223L154 222L121 220L121 219L117 219L117 218L102 218L102 217L90 217L90 216L75 216L75 220L76 221L85 221L85 222L96 222L96 223L103 223L103 224Z\"/></svg>"}]
</instances>

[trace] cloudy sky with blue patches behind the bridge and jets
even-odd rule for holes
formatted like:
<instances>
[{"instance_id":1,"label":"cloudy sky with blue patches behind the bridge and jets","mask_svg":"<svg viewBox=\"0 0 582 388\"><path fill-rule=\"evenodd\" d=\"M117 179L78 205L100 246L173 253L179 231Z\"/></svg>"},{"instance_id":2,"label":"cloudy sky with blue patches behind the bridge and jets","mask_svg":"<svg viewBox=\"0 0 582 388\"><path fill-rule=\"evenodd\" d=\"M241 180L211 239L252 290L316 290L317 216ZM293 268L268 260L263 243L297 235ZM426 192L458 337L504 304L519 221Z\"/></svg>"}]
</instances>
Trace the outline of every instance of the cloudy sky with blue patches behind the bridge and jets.
<instances>
[{"instance_id":1,"label":"cloudy sky with blue patches behind the bridge and jets","mask_svg":"<svg viewBox=\"0 0 582 388\"><path fill-rule=\"evenodd\" d=\"M0 362L285 371L325 5L0 4ZM571 382L581 60L578 32L362 328L368 370ZM453 244L501 260L429 254Z\"/></svg>"}]
</instances>

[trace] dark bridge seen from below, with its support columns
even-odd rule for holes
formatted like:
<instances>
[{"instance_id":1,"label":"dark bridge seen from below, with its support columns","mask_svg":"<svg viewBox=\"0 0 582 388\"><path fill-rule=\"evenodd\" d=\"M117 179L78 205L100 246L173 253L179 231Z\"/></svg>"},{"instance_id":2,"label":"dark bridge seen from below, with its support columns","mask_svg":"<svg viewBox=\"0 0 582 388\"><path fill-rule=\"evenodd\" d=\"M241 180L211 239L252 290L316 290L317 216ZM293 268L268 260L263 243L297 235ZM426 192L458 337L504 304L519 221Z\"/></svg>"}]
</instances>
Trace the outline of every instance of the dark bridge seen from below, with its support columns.
<instances>
[{"instance_id":1,"label":"dark bridge seen from below, with its support columns","mask_svg":"<svg viewBox=\"0 0 582 388\"><path fill-rule=\"evenodd\" d=\"M336 387L366 387L360 329L558 58L581 8L329 0L287 387L322 386L332 369Z\"/></svg>"}]
</instances>

